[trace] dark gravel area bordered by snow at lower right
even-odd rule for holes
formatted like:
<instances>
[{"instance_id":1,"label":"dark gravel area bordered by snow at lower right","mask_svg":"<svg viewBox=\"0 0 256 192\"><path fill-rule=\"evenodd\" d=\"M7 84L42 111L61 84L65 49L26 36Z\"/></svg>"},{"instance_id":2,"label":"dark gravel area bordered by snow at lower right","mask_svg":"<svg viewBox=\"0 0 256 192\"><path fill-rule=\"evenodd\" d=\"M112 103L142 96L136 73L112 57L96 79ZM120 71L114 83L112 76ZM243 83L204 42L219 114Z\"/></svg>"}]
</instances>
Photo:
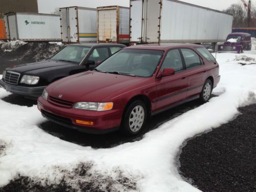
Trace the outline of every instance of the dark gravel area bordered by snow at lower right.
<instances>
[{"instance_id":1,"label":"dark gravel area bordered by snow at lower right","mask_svg":"<svg viewBox=\"0 0 256 192\"><path fill-rule=\"evenodd\" d=\"M202 191L256 191L256 104L182 148L180 174Z\"/></svg>"}]
</instances>

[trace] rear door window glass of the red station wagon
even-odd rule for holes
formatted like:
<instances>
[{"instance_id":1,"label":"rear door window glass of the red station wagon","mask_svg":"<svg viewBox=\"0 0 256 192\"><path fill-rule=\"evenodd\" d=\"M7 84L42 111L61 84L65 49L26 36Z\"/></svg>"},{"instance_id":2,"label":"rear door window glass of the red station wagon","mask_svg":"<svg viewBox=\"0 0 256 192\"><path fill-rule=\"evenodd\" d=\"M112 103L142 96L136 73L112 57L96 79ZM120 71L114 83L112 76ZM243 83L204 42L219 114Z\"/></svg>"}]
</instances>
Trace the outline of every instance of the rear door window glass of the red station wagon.
<instances>
[{"instance_id":1,"label":"rear door window glass of the red station wagon","mask_svg":"<svg viewBox=\"0 0 256 192\"><path fill-rule=\"evenodd\" d=\"M202 62L198 54L191 49L181 49L187 69L201 66Z\"/></svg>"}]
</instances>

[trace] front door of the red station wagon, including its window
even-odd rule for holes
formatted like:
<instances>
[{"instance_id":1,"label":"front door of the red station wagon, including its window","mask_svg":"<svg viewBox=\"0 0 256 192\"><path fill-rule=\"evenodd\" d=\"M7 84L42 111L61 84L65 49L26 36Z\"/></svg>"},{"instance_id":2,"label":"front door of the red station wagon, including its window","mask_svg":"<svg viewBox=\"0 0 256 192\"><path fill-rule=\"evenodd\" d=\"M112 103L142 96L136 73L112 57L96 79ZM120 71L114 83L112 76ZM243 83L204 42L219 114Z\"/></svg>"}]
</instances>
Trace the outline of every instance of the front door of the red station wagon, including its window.
<instances>
[{"instance_id":1,"label":"front door of the red station wagon, including its window","mask_svg":"<svg viewBox=\"0 0 256 192\"><path fill-rule=\"evenodd\" d=\"M157 79L156 111L168 108L184 100L186 96L187 78L179 49L168 51L160 71L165 68L173 68L175 74Z\"/></svg>"}]
</instances>

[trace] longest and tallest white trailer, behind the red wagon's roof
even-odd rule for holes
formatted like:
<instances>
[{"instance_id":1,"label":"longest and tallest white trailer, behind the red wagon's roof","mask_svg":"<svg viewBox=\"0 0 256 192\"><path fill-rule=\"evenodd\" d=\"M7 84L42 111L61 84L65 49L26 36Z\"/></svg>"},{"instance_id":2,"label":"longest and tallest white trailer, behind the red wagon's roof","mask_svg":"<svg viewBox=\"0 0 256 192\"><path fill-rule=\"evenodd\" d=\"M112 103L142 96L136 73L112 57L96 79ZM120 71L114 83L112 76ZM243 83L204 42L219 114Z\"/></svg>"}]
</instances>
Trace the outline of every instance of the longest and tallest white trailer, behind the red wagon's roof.
<instances>
[{"instance_id":1,"label":"longest and tallest white trailer, behind the red wagon's roof","mask_svg":"<svg viewBox=\"0 0 256 192\"><path fill-rule=\"evenodd\" d=\"M231 32L232 15L176 0L131 0L130 41L216 43Z\"/></svg>"}]
</instances>

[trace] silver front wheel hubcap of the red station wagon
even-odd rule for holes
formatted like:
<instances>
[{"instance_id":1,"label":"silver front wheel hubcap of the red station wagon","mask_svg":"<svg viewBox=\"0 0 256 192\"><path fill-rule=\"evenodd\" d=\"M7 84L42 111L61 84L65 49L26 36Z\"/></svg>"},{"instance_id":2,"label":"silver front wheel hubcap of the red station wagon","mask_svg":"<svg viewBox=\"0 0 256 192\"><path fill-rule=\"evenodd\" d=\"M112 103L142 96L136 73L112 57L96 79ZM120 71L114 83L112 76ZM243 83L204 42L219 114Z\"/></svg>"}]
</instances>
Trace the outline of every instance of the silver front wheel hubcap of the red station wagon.
<instances>
[{"instance_id":1,"label":"silver front wheel hubcap of the red station wagon","mask_svg":"<svg viewBox=\"0 0 256 192\"><path fill-rule=\"evenodd\" d=\"M137 105L133 108L129 117L129 127L132 132L140 130L144 122L145 112L141 105Z\"/></svg>"}]
</instances>

